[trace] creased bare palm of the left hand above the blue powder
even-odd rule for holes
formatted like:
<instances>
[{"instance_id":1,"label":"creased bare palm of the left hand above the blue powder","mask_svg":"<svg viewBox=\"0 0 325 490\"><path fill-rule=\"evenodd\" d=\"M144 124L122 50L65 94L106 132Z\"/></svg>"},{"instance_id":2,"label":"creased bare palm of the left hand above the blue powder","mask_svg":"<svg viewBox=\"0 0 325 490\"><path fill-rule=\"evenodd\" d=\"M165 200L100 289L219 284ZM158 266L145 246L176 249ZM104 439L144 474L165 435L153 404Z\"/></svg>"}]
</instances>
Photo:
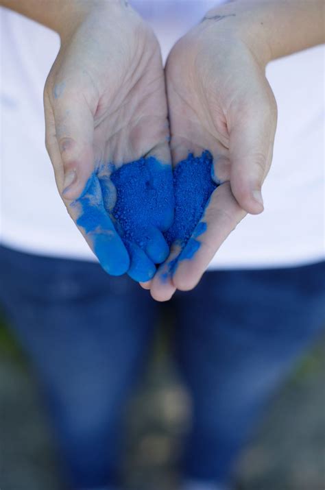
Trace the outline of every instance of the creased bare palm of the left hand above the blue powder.
<instances>
[{"instance_id":1,"label":"creased bare palm of the left hand above the blue powder","mask_svg":"<svg viewBox=\"0 0 325 490\"><path fill-rule=\"evenodd\" d=\"M113 53L112 53L113 55ZM108 55L109 56L109 55ZM114 53L116 56L116 51ZM94 145L104 162L130 162L155 154L170 160L165 79L156 38L143 25L129 64L111 77L110 66L97 80ZM110 62L112 58L110 57ZM95 83L97 83L97 80Z\"/></svg>"}]
</instances>

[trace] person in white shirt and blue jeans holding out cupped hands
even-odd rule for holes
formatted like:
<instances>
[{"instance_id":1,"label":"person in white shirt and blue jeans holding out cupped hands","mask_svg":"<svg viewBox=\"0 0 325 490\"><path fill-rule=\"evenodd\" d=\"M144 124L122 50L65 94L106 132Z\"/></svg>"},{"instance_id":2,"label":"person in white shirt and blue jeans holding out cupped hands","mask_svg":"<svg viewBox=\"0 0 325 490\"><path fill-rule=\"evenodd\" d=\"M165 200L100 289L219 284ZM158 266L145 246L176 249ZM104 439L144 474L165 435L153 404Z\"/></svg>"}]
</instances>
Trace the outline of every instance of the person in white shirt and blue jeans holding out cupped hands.
<instances>
[{"instance_id":1,"label":"person in white shirt and blue jeans holding out cupped hands","mask_svg":"<svg viewBox=\"0 0 325 490\"><path fill-rule=\"evenodd\" d=\"M209 149L222 185L201 247L163 281L172 247L142 285L160 302L172 297L193 400L182 485L230 488L269 397L324 326L324 3L130 3L1 0L10 10L1 9L0 300L37 368L71 488L117 487L121 407L163 305L94 262L94 236L80 227L84 240L64 204L77 222L71 204L103 159L177 164ZM59 193L40 136L48 72L46 143ZM265 212L252 216L264 207L273 149ZM123 249L111 223L102 231L106 252L108 236ZM110 272L116 257L98 258ZM128 259L119 258L120 273Z\"/></svg>"}]
</instances>

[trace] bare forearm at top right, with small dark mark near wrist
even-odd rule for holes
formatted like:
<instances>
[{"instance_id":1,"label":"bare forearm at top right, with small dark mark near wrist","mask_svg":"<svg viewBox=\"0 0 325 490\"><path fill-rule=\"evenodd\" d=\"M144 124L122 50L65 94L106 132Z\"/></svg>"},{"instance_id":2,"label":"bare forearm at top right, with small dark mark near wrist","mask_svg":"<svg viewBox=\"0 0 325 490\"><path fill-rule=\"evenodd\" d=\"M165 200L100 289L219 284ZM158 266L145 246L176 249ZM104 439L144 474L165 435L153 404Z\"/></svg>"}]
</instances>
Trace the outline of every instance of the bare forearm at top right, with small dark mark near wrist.
<instances>
[{"instance_id":1,"label":"bare forearm at top right, with small dark mark near wrist","mask_svg":"<svg viewBox=\"0 0 325 490\"><path fill-rule=\"evenodd\" d=\"M325 42L324 10L324 0L232 0L210 10L205 19L231 16L218 29L239 29L267 63Z\"/></svg>"}]
</instances>

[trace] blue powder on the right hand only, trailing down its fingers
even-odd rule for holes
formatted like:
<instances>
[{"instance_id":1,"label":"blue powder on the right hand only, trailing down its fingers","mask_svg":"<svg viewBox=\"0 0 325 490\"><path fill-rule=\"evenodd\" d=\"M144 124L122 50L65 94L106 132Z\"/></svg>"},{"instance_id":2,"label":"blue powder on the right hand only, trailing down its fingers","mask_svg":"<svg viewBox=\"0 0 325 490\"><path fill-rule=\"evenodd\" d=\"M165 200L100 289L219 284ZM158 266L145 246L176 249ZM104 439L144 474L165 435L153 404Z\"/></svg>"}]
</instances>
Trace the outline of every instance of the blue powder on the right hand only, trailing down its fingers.
<instances>
[{"instance_id":1,"label":"blue powder on the right hand only, trailing down its fingers","mask_svg":"<svg viewBox=\"0 0 325 490\"><path fill-rule=\"evenodd\" d=\"M207 229L207 224L200 220L217 188L211 178L212 171L213 157L207 150L200 157L189 154L174 169L175 218L165 238L169 245L178 243L182 252L167 264L168 272L160 276L163 280L175 273L180 260L191 260L200 248L200 241L196 238Z\"/></svg>"}]
</instances>

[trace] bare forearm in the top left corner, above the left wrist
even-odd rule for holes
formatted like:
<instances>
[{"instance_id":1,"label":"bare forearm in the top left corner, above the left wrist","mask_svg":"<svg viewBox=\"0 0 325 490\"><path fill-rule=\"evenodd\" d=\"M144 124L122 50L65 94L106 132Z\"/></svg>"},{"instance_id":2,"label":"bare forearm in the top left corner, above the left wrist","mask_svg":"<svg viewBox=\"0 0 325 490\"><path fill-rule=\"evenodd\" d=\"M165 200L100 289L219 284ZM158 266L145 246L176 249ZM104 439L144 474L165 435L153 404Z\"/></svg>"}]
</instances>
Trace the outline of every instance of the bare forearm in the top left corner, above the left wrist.
<instances>
[{"instance_id":1,"label":"bare forearm in the top left corner, above the left wrist","mask_svg":"<svg viewBox=\"0 0 325 490\"><path fill-rule=\"evenodd\" d=\"M125 0L0 0L0 5L46 25L63 37L94 9L115 7Z\"/></svg>"}]
</instances>

